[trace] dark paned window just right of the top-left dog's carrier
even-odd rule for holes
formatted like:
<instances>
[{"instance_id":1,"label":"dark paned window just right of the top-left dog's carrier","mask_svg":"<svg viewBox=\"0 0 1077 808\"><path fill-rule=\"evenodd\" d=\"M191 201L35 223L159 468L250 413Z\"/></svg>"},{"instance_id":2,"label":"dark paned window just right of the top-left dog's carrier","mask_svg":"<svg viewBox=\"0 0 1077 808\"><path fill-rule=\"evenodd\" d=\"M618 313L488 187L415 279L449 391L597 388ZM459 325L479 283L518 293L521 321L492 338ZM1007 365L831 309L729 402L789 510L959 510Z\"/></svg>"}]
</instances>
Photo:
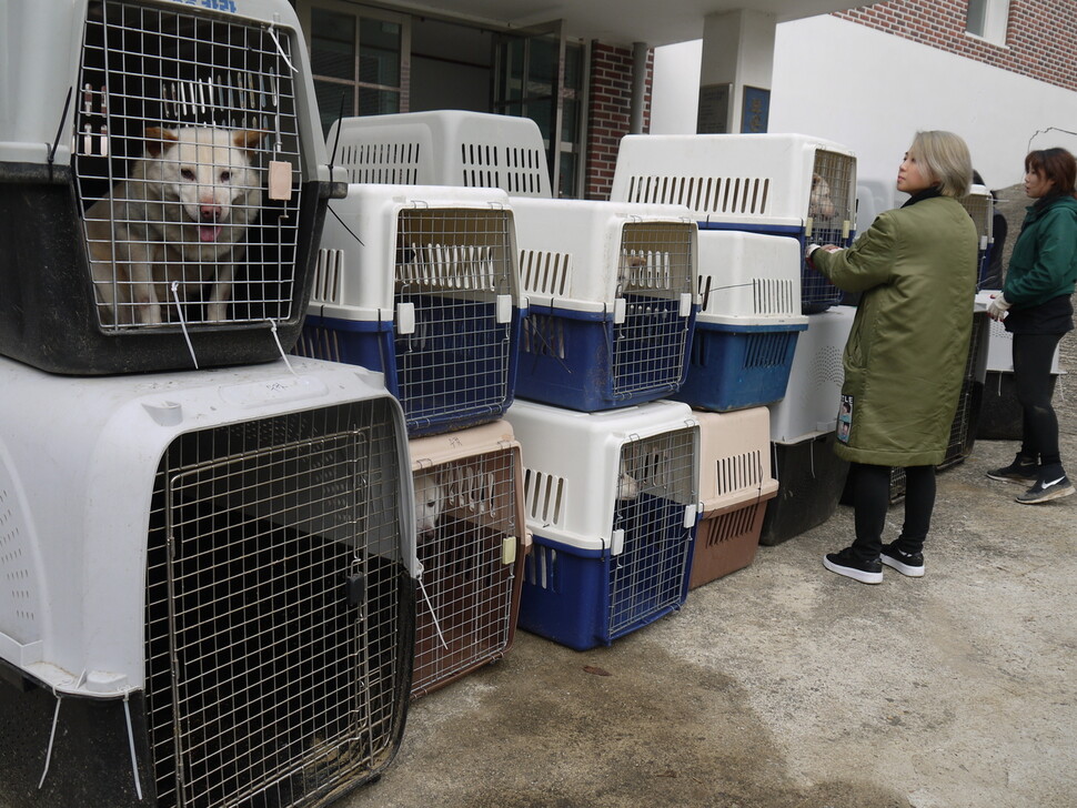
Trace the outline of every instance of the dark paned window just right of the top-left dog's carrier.
<instances>
[{"instance_id":1,"label":"dark paned window just right of the top-left dog's carrier","mask_svg":"<svg viewBox=\"0 0 1077 808\"><path fill-rule=\"evenodd\" d=\"M330 2L306 10L322 131L339 117L403 111L406 18Z\"/></svg>"}]
</instances>

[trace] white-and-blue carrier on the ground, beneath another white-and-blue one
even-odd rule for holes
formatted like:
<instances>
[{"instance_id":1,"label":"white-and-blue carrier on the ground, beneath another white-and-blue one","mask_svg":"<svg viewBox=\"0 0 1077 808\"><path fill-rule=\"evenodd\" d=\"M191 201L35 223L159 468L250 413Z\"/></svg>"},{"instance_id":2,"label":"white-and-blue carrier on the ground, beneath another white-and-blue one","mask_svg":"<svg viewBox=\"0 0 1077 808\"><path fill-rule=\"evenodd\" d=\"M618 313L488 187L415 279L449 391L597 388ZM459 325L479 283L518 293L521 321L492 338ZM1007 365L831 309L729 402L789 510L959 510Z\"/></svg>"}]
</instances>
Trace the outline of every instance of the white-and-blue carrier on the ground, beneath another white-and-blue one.
<instances>
[{"instance_id":1,"label":"white-and-blue carrier on the ground, beneath another white-and-blue one","mask_svg":"<svg viewBox=\"0 0 1077 808\"><path fill-rule=\"evenodd\" d=\"M577 413L517 401L507 418L534 534L520 626L585 650L678 609L698 517L688 405Z\"/></svg>"}]
</instances>

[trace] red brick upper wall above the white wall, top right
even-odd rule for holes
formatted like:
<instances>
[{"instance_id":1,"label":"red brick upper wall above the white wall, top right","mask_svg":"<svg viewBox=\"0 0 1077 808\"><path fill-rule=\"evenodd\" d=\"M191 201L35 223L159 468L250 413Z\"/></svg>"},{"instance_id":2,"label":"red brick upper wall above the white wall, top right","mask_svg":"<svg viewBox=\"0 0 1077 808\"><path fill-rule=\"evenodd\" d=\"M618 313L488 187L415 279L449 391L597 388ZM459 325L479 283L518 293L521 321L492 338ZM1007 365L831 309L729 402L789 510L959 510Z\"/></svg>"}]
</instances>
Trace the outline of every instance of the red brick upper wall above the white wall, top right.
<instances>
[{"instance_id":1,"label":"red brick upper wall above the white wall, top right","mask_svg":"<svg viewBox=\"0 0 1077 808\"><path fill-rule=\"evenodd\" d=\"M1077 2L1010 0L1006 44L965 33L966 0L889 0L835 17L1077 90Z\"/></svg>"}]
</instances>

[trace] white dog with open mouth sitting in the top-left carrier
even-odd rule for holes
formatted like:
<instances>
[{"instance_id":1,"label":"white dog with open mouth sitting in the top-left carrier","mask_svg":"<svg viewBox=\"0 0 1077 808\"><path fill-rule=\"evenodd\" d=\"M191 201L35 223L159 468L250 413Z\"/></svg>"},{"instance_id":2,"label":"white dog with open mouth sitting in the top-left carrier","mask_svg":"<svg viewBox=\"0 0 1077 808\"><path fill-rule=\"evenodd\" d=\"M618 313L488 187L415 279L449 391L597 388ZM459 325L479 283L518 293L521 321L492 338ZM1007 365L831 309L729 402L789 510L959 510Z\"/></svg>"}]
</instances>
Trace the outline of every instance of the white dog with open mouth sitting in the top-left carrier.
<instances>
[{"instance_id":1,"label":"white dog with open mouth sitting in the top-left carrier","mask_svg":"<svg viewBox=\"0 0 1077 808\"><path fill-rule=\"evenodd\" d=\"M205 320L223 321L235 263L262 189L253 168L264 132L188 127L145 130L130 178L85 212L93 283L107 321L160 323L208 291Z\"/></svg>"}]
</instances>

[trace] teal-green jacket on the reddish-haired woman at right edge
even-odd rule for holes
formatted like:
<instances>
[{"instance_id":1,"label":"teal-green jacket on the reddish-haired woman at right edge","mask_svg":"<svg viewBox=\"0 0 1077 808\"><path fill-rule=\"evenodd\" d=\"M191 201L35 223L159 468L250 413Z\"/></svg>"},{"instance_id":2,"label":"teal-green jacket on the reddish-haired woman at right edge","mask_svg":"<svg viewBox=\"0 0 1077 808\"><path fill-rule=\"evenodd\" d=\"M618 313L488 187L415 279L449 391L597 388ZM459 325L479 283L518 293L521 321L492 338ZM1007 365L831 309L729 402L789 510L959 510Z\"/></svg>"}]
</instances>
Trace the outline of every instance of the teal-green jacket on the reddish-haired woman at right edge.
<instances>
[{"instance_id":1,"label":"teal-green jacket on the reddish-haired woman at right edge","mask_svg":"<svg viewBox=\"0 0 1077 808\"><path fill-rule=\"evenodd\" d=\"M1043 210L1027 210L1003 285L1015 310L1073 294L1077 284L1077 199L1061 196Z\"/></svg>"}]
</instances>

